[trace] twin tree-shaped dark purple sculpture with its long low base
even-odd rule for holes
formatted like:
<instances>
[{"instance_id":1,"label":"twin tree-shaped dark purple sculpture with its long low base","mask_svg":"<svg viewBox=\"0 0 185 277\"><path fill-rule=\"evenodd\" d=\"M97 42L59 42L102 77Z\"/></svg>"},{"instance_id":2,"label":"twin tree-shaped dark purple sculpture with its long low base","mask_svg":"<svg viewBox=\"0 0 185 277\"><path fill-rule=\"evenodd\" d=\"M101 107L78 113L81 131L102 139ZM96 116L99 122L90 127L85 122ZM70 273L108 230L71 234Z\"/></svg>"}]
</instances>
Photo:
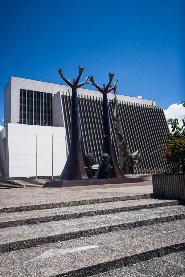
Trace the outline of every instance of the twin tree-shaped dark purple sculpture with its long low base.
<instances>
[{"instance_id":1,"label":"twin tree-shaped dark purple sculpture with its long low base","mask_svg":"<svg viewBox=\"0 0 185 277\"><path fill-rule=\"evenodd\" d=\"M105 153L102 158L103 160L108 160L103 166L103 175L101 169L101 162L99 164L95 178L93 179L93 173L91 166L94 160L92 153L89 153L90 156L86 156L85 166L84 166L84 154L81 146L81 130L80 130L80 119L79 119L79 110L78 110L78 99L76 89L80 86L83 86L88 77L84 82L78 83L81 77L81 74L84 70L84 67L79 66L78 77L73 79L73 83L70 80L64 78L61 69L59 74L62 79L72 88L72 108L71 108L71 145L69 149L68 158L62 171L60 177L56 181L49 181L44 184L44 187L72 187L72 186L88 186L88 185L102 185L102 184L120 184L120 183L136 183L143 182L141 178L129 178L127 179L121 172L116 156L113 151L113 143L111 136L111 127L110 127L110 117L109 117L109 105L107 100L107 93L111 91L115 86L109 87L112 82L114 74L109 73L109 83L103 88L97 86L94 83L94 80L91 76L90 80L97 87L97 89L103 94L103 147L102 153ZM108 155L108 156L107 156ZM90 158L92 159L90 161ZM110 164L109 164L110 162ZM85 168L86 167L86 168ZM103 176L103 177L101 177ZM90 179L88 179L90 177ZM97 178L97 179L96 179ZM105 178L105 179L101 179Z\"/></svg>"}]
</instances>

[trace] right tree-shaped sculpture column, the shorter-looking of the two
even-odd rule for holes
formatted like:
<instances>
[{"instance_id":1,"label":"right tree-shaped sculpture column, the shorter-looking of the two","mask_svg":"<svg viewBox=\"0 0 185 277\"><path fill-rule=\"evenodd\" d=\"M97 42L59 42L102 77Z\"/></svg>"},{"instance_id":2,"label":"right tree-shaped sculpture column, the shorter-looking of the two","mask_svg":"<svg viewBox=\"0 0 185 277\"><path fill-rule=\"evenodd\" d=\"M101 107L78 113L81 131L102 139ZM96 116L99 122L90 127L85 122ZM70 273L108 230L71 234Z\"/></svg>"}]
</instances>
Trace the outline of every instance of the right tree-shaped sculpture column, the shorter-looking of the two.
<instances>
[{"instance_id":1,"label":"right tree-shaped sculpture column, the shorter-looking of the two","mask_svg":"<svg viewBox=\"0 0 185 277\"><path fill-rule=\"evenodd\" d=\"M90 80L92 84L103 94L103 145L102 145L102 154L107 153L110 155L110 165L113 167L112 177L111 178L124 178L121 169L117 163L116 155L113 149L112 134L111 134L111 125L110 125L110 115L109 115L109 103L107 100L107 93L109 93L116 86L117 82L114 82L113 86L110 87L110 84L113 80L114 74L109 73L109 83L108 85L101 88L99 85L96 85L93 77L91 76ZM96 173L95 178L100 179L100 167L101 161Z\"/></svg>"}]
</instances>

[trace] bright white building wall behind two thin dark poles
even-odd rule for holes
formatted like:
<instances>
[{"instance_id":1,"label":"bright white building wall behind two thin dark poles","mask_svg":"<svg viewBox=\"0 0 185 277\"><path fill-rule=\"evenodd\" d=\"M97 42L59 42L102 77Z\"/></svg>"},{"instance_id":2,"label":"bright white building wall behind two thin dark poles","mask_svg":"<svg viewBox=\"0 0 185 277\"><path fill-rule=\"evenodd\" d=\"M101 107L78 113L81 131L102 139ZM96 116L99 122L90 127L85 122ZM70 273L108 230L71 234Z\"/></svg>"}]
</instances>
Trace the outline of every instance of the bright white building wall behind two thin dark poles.
<instances>
[{"instance_id":1,"label":"bright white building wall behind two thin dark poles","mask_svg":"<svg viewBox=\"0 0 185 277\"><path fill-rule=\"evenodd\" d=\"M65 128L8 124L9 177L60 175L66 162ZM8 177L8 176L7 176Z\"/></svg>"}]
</instances>

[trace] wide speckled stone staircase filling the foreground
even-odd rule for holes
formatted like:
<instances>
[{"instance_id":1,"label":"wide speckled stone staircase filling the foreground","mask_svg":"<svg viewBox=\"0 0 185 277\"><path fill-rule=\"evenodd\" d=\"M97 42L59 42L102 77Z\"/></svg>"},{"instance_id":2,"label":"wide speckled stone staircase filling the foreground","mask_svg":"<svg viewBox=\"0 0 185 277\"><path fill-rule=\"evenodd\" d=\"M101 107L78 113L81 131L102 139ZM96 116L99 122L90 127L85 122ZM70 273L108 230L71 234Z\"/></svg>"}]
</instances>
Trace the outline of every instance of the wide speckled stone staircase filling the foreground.
<instances>
[{"instance_id":1,"label":"wide speckled stone staircase filling the foreground","mask_svg":"<svg viewBox=\"0 0 185 277\"><path fill-rule=\"evenodd\" d=\"M185 206L130 195L0 210L1 276L184 276Z\"/></svg>"}]
</instances>

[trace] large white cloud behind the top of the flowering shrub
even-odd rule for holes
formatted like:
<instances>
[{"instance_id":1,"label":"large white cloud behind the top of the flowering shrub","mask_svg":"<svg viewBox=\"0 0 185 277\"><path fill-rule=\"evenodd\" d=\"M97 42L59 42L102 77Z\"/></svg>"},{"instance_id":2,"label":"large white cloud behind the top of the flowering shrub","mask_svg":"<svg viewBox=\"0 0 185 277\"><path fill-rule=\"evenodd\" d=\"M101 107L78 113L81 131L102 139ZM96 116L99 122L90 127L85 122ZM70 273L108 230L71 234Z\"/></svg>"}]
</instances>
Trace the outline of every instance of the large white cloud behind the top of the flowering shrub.
<instances>
[{"instance_id":1,"label":"large white cloud behind the top of the flowering shrub","mask_svg":"<svg viewBox=\"0 0 185 277\"><path fill-rule=\"evenodd\" d=\"M164 114L166 116L166 119L169 118L178 118L179 121L179 127L183 126L183 122L182 120L179 120L179 118L181 119L185 119L185 108L183 107L182 104L171 104L167 110L164 110ZM170 125L169 125L170 127Z\"/></svg>"}]
</instances>

